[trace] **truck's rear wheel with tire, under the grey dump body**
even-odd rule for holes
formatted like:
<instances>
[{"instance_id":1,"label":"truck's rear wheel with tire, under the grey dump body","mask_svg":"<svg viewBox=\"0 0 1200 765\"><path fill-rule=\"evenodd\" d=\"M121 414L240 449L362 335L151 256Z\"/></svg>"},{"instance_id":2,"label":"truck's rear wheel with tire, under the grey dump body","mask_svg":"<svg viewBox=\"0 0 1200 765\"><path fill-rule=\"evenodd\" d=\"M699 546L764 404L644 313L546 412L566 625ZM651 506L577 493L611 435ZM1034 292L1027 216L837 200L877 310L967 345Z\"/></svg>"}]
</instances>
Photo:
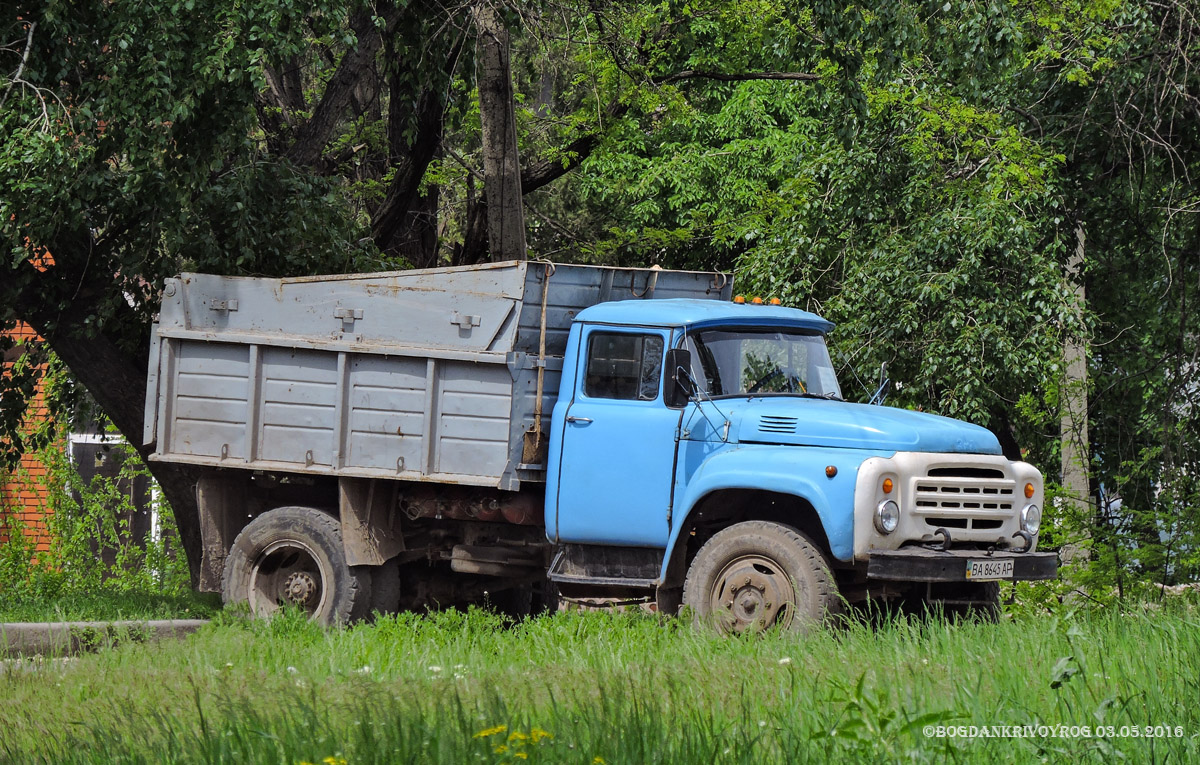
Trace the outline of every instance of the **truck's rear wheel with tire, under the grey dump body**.
<instances>
[{"instance_id":1,"label":"truck's rear wheel with tire, under the grey dump body","mask_svg":"<svg viewBox=\"0 0 1200 765\"><path fill-rule=\"evenodd\" d=\"M370 614L371 571L347 566L342 526L312 507L278 507L251 520L226 558L221 596L270 616L292 603L329 626Z\"/></svg>"}]
</instances>

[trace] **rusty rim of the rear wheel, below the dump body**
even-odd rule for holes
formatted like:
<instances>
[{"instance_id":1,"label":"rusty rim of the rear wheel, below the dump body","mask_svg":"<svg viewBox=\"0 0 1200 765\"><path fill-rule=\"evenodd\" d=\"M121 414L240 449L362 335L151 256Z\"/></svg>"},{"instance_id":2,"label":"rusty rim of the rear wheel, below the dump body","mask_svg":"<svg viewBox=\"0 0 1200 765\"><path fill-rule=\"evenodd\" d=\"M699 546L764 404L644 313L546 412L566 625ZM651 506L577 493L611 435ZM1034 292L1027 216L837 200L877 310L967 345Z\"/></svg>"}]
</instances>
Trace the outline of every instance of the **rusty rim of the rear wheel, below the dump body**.
<instances>
[{"instance_id":1,"label":"rusty rim of the rear wheel, below the dump body","mask_svg":"<svg viewBox=\"0 0 1200 765\"><path fill-rule=\"evenodd\" d=\"M250 571L250 608L270 615L298 606L310 616L325 608L329 572L312 548L299 540L280 540L263 548Z\"/></svg>"}]
</instances>

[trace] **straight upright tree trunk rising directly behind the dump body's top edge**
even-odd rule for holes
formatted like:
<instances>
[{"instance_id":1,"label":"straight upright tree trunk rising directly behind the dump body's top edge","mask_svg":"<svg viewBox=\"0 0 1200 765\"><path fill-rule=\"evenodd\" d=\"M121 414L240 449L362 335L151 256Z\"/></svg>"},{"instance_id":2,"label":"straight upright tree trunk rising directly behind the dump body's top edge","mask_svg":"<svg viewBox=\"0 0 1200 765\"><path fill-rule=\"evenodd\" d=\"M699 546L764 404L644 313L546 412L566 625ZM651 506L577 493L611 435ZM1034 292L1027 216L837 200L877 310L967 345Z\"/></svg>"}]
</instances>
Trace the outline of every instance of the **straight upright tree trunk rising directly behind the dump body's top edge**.
<instances>
[{"instance_id":1,"label":"straight upright tree trunk rising directly behind the dump body's top edge","mask_svg":"<svg viewBox=\"0 0 1200 765\"><path fill-rule=\"evenodd\" d=\"M492 260L524 260L524 209L509 65L509 30L494 6L476 5L473 16L479 30L479 119L484 133L488 251Z\"/></svg>"}]
</instances>

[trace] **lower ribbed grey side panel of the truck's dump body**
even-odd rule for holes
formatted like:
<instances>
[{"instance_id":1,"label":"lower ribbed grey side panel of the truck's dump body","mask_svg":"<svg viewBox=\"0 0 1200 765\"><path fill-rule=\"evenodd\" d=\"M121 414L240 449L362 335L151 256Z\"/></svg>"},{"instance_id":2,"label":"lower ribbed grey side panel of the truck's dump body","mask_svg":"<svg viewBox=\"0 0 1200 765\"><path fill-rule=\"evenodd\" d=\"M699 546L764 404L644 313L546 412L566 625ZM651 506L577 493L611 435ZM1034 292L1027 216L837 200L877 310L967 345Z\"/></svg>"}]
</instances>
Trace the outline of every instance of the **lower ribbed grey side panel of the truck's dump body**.
<instances>
[{"instance_id":1,"label":"lower ribbed grey side panel of the truck's dump body","mask_svg":"<svg viewBox=\"0 0 1200 765\"><path fill-rule=\"evenodd\" d=\"M508 465L504 365L163 342L179 361L158 459L475 486Z\"/></svg>"}]
</instances>

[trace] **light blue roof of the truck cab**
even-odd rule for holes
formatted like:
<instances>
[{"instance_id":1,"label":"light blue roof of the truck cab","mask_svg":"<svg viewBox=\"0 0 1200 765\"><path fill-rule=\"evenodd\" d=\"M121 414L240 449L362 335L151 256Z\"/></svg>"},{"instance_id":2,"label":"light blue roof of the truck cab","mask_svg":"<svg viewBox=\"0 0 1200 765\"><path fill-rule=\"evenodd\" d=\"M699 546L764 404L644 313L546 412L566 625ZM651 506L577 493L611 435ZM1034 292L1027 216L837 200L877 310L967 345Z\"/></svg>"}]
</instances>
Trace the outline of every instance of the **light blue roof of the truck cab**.
<instances>
[{"instance_id":1,"label":"light blue roof of the truck cab","mask_svg":"<svg viewBox=\"0 0 1200 765\"><path fill-rule=\"evenodd\" d=\"M575 320L626 326L799 326L822 333L834 327L832 321L798 308L692 297L599 303L581 311Z\"/></svg>"}]
</instances>

